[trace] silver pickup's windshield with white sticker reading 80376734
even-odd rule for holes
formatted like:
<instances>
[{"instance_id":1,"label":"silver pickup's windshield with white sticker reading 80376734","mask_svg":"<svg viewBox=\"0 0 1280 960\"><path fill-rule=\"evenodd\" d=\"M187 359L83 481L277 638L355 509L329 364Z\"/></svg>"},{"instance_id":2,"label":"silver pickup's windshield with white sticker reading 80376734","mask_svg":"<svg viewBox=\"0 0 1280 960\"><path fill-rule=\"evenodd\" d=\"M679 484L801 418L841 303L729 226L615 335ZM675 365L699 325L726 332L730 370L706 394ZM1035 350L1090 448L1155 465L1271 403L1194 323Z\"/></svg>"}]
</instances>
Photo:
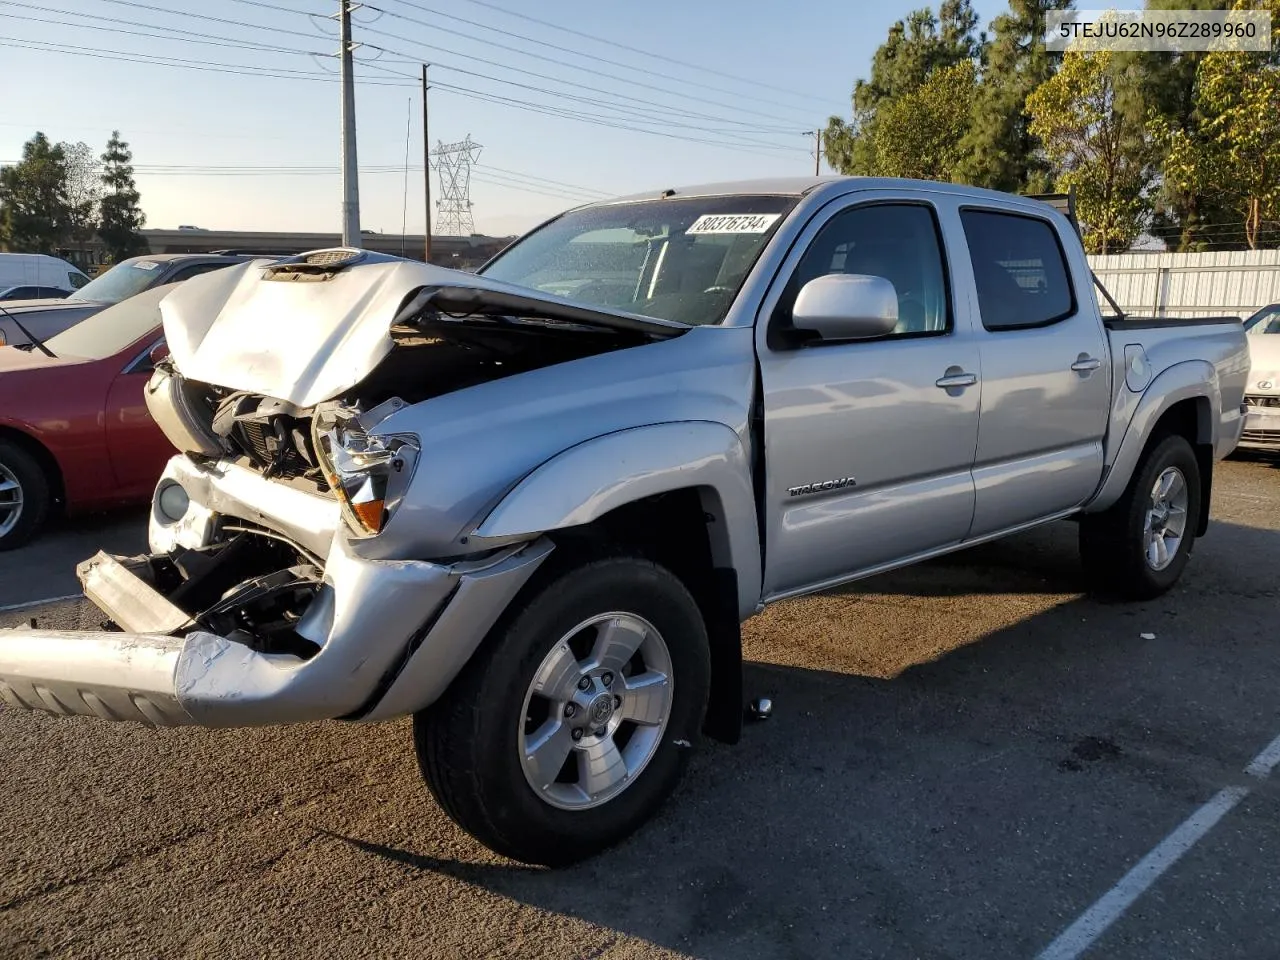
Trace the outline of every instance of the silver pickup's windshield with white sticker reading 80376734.
<instances>
[{"instance_id":1,"label":"silver pickup's windshield with white sticker reading 80376734","mask_svg":"<svg viewBox=\"0 0 1280 960\"><path fill-rule=\"evenodd\" d=\"M576 210L480 273L557 297L718 324L796 197L645 200Z\"/></svg>"}]
</instances>

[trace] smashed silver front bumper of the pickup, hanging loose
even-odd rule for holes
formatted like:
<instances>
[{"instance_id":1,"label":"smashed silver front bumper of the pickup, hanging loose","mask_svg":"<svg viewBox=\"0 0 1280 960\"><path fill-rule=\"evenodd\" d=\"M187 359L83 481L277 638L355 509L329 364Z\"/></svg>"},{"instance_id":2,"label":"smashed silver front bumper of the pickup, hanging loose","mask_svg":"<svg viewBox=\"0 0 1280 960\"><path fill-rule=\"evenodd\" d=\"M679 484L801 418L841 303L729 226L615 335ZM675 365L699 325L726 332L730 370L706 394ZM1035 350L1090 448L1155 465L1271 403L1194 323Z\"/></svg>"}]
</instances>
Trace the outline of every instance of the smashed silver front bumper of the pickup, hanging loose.
<instances>
[{"instance_id":1,"label":"smashed silver front bumper of the pickup, hanging loose","mask_svg":"<svg viewBox=\"0 0 1280 960\"><path fill-rule=\"evenodd\" d=\"M0 631L6 704L209 727L412 713L550 552L538 540L449 563L369 561L337 530L335 504L246 467L174 458L161 486L178 485L191 492L183 517L151 521L152 545L168 536L172 549L79 566L104 632ZM253 520L264 500L270 526ZM328 532L326 557L291 529Z\"/></svg>"}]
</instances>

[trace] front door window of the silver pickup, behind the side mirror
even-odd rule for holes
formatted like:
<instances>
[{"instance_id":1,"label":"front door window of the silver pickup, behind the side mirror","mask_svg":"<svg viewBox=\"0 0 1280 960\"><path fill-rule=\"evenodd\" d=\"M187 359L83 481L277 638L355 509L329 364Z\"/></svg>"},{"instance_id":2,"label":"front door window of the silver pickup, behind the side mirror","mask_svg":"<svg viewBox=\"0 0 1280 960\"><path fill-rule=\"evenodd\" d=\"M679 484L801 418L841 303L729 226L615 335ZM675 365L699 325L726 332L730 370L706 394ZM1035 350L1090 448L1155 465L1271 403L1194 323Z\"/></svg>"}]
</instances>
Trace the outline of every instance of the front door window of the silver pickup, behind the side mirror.
<instances>
[{"instance_id":1,"label":"front door window of the silver pickup, behind the side mirror","mask_svg":"<svg viewBox=\"0 0 1280 960\"><path fill-rule=\"evenodd\" d=\"M869 204L836 214L813 238L773 314L773 329L791 326L800 288L827 274L883 276L897 292L890 337L951 329L947 274L937 219L920 204Z\"/></svg>"}]
</instances>

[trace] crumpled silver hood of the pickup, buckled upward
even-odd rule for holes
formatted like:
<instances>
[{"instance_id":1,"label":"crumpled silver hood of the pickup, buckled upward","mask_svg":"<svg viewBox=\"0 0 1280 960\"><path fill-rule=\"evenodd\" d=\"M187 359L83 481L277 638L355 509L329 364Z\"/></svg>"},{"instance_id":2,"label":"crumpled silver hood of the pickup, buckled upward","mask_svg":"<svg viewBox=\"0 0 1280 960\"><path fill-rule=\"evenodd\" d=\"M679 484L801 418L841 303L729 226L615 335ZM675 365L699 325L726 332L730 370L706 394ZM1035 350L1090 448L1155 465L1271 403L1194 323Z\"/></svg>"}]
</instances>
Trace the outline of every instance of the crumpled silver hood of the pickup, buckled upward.
<instances>
[{"instance_id":1,"label":"crumpled silver hood of the pickup, buckled upward","mask_svg":"<svg viewBox=\"0 0 1280 960\"><path fill-rule=\"evenodd\" d=\"M390 352L410 294L440 288L466 308L518 301L566 320L669 332L682 324L611 315L515 284L412 260L365 253L325 279L268 279L253 261L195 276L160 301L169 352L191 380L311 407L360 383ZM449 307L454 308L454 307ZM465 310L463 310L465 312Z\"/></svg>"}]
</instances>

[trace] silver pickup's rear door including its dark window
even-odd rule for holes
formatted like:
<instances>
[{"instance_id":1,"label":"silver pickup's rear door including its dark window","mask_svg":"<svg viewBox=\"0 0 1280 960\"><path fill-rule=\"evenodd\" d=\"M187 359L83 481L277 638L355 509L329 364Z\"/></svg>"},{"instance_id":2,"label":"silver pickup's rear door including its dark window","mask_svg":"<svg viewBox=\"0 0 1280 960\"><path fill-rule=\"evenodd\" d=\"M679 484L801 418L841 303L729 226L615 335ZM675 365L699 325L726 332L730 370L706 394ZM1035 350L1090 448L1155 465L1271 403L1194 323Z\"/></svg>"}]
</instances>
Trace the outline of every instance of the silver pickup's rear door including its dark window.
<instances>
[{"instance_id":1,"label":"silver pickup's rear door including its dark window","mask_svg":"<svg viewBox=\"0 0 1280 960\"><path fill-rule=\"evenodd\" d=\"M986 206L963 206L960 220L982 355L970 531L978 538L1069 511L1093 493L1111 379L1097 303L1076 296L1092 289L1073 276L1088 265L1083 256L1070 262L1055 224Z\"/></svg>"}]
</instances>

